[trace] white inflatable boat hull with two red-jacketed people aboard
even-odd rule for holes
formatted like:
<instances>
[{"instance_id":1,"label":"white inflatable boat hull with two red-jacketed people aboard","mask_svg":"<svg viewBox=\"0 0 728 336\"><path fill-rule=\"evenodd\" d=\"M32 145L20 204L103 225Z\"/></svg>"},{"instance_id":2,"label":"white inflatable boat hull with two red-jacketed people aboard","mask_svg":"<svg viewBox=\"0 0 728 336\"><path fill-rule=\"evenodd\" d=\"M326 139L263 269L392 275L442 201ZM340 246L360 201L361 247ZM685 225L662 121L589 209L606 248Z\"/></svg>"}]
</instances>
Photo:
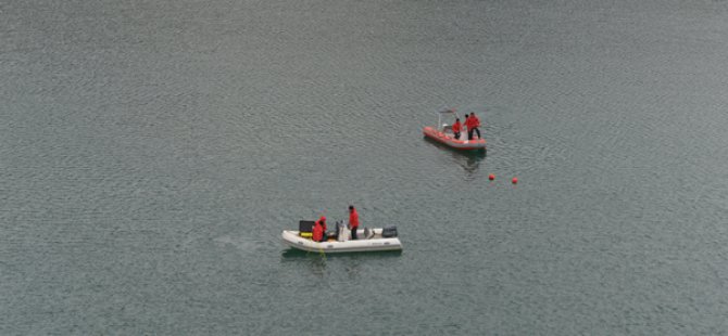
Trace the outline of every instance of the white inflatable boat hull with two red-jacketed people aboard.
<instances>
[{"instance_id":1,"label":"white inflatable boat hull with two red-jacketed people aboard","mask_svg":"<svg viewBox=\"0 0 728 336\"><path fill-rule=\"evenodd\" d=\"M401 250L402 243L397 237L397 229L394 229L394 236L382 237L385 229L367 229L357 230L356 236L359 240L351 241L348 237L342 240L329 237L326 242L314 242L310 237L303 237L300 231L284 230L280 235L284 243L292 248L298 248L315 253L353 253L353 251L379 251L379 250ZM368 238L367 235L368 234ZM389 235L389 234L386 234Z\"/></svg>"}]
</instances>

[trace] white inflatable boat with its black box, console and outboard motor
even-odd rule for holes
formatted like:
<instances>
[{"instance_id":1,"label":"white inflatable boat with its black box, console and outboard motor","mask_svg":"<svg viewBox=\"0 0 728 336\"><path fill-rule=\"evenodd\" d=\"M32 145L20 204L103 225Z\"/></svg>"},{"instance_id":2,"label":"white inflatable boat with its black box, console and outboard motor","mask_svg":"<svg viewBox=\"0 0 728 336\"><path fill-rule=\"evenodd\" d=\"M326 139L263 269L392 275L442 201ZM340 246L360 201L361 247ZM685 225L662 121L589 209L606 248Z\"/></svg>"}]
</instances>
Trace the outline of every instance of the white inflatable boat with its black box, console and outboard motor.
<instances>
[{"instance_id":1,"label":"white inflatable boat with its black box, console and outboard motor","mask_svg":"<svg viewBox=\"0 0 728 336\"><path fill-rule=\"evenodd\" d=\"M312 224L312 221L301 221L299 230L284 230L280 235L284 244L301 250L326 254L402 250L402 243L397 237L396 227L359 229L356 235L360 238L350 240L343 223L337 223L336 232L328 232L324 242L315 242L310 234Z\"/></svg>"}]
</instances>

